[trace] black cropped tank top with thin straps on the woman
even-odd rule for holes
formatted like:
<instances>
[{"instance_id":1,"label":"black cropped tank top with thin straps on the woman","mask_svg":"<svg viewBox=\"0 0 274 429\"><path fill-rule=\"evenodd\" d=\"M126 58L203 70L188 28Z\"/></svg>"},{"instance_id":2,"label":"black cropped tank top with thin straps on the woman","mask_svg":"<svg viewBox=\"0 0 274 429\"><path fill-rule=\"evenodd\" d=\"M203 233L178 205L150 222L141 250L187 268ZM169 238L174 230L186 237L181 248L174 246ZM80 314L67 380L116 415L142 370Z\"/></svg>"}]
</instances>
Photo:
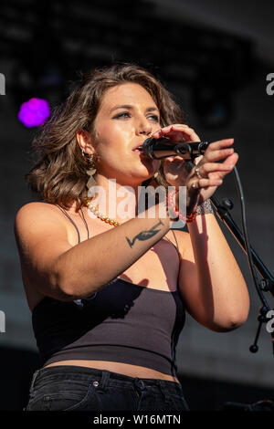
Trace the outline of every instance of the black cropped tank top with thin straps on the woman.
<instances>
[{"instance_id":1,"label":"black cropped tank top with thin straps on the woman","mask_svg":"<svg viewBox=\"0 0 274 429\"><path fill-rule=\"evenodd\" d=\"M79 235L77 225L61 210ZM89 298L71 302L43 298L32 312L43 367L67 360L116 361L173 376L184 319L178 288L173 292L145 288L119 277Z\"/></svg>"}]
</instances>

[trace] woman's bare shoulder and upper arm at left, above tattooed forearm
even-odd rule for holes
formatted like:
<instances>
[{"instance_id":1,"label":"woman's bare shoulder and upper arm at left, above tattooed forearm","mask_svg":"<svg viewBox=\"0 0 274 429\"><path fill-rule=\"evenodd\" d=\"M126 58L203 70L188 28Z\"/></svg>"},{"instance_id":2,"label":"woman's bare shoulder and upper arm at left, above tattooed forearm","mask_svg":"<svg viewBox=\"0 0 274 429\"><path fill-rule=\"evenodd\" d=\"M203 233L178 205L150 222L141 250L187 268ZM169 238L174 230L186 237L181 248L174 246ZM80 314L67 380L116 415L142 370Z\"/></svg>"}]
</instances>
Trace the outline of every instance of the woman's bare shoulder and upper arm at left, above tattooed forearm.
<instances>
[{"instance_id":1,"label":"woman's bare shoulder and upper arm at left, above tattooed forearm","mask_svg":"<svg viewBox=\"0 0 274 429\"><path fill-rule=\"evenodd\" d=\"M47 295L58 256L71 245L58 207L33 202L16 212L14 232L29 308Z\"/></svg>"}]
</instances>

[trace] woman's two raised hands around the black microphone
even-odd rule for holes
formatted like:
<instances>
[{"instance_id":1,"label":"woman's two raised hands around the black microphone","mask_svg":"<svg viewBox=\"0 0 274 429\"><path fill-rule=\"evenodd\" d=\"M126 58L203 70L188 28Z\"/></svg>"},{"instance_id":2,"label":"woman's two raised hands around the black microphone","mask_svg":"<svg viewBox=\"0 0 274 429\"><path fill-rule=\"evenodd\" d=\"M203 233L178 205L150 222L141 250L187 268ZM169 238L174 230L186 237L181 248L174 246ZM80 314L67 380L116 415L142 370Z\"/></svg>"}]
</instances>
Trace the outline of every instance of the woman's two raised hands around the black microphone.
<instances>
[{"instance_id":1,"label":"woman's two raised hands around the black microphone","mask_svg":"<svg viewBox=\"0 0 274 429\"><path fill-rule=\"evenodd\" d=\"M167 139L160 141L164 137ZM202 204L215 193L217 186L223 183L223 178L233 170L238 160L237 153L231 148L234 139L214 141L210 144L201 142L195 131L184 124L164 127L155 132L152 138L153 152L156 155L162 153L162 158L164 158L163 173L166 181L176 188L186 186L188 196L192 199L198 198L197 204ZM157 152L155 142L158 139L159 152ZM169 141L167 141L168 139ZM185 160L191 159L188 149L186 150L183 146L186 144L185 141L188 141L190 146L192 143L194 144L195 167L191 168L191 171L187 168L189 162L185 162ZM147 147L150 144L152 141L146 143ZM200 147L199 144L201 144ZM144 150L146 150L146 145L144 145ZM172 151L172 147L176 146L177 149L168 154L167 151ZM200 150L204 154L198 156ZM152 149L147 149L147 151L152 151ZM221 160L225 161L219 162Z\"/></svg>"}]
</instances>

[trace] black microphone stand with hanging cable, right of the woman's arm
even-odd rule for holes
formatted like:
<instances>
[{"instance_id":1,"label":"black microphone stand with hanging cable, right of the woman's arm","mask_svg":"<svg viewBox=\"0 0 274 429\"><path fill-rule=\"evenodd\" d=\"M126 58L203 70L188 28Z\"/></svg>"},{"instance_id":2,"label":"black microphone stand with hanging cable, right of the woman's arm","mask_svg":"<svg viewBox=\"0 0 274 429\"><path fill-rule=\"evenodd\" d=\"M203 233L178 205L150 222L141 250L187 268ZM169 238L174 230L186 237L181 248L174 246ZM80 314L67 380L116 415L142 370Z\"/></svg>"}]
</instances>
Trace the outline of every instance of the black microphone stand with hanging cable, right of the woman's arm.
<instances>
[{"instance_id":1,"label":"black microphone stand with hanging cable, right of the woman's arm","mask_svg":"<svg viewBox=\"0 0 274 429\"><path fill-rule=\"evenodd\" d=\"M191 146L191 143L189 144L189 146ZM200 153L203 154L203 152L201 151ZM186 161L186 162L189 163L191 168L193 168L195 166L195 163L194 163L195 155L192 153L191 147L189 149L189 154L190 154L191 161ZM241 230L238 228L237 224L233 220L231 214L229 214L228 212L228 210L231 210L233 208L234 204L232 203L232 201L229 198L225 197L222 199L222 202L219 203L216 196L213 196L213 195L211 196L210 201L214 205L216 209L216 214L218 215L219 219L227 226L228 231L234 236L234 238L237 240L238 245L248 256L249 268L254 280L255 287L258 292L258 298L262 303L262 307L259 309L259 314L258 314L258 330L253 344L249 347L249 351L251 351L252 353L256 353L258 351L258 336L259 336L262 324L268 322L269 318L271 316L272 317L274 316L274 311L273 310L271 311L271 309L269 308L269 304L263 295L263 291L270 292L274 297L274 278L270 274L268 268L263 264L261 259L258 257L255 250L249 245L248 231L247 231L246 218L245 218L244 195L243 195L242 186L240 183L236 166L233 169L233 173L235 175L235 179L237 183L237 191L242 205L242 223L243 223L244 235L242 234ZM262 277L259 282L258 282L258 277L256 275L254 266L257 268L258 273ZM271 334L273 354L274 354L274 327L267 329L267 331Z\"/></svg>"}]
</instances>

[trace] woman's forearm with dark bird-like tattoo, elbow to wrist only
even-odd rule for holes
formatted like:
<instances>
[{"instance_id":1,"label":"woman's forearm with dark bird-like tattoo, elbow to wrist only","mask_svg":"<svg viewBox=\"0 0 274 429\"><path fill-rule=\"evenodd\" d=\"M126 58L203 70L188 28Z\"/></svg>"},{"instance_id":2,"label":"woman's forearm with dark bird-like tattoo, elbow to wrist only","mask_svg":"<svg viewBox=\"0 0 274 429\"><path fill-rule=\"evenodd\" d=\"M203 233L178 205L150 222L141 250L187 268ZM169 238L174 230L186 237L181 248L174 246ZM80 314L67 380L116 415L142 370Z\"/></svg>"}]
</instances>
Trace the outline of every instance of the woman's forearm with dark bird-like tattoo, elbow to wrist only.
<instances>
[{"instance_id":1,"label":"woman's forearm with dark bird-like tattoo, elbow to wrist only","mask_svg":"<svg viewBox=\"0 0 274 429\"><path fill-rule=\"evenodd\" d=\"M58 282L71 299L86 298L131 267L169 228L170 219L162 212L95 235L59 256Z\"/></svg>"}]
</instances>

